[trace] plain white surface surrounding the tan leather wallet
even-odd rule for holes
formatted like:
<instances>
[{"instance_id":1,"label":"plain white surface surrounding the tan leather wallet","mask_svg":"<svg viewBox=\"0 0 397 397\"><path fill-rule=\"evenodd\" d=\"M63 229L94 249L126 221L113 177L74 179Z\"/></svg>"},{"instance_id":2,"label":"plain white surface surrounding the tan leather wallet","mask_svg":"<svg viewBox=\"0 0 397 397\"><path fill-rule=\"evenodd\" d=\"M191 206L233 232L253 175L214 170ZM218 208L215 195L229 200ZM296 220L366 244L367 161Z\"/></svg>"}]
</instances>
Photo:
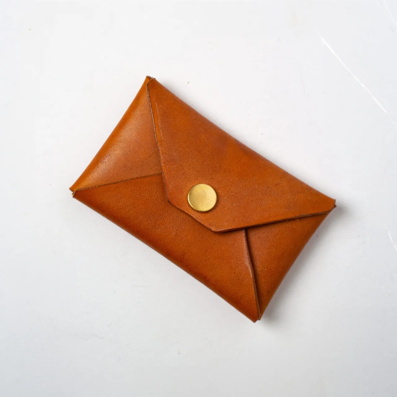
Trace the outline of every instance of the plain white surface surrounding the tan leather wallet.
<instances>
[{"instance_id":1,"label":"plain white surface surrounding the tan leather wallet","mask_svg":"<svg viewBox=\"0 0 397 397\"><path fill-rule=\"evenodd\" d=\"M397 396L397 2L0 2L0 396ZM338 207L252 324L77 200L146 75Z\"/></svg>"}]
</instances>

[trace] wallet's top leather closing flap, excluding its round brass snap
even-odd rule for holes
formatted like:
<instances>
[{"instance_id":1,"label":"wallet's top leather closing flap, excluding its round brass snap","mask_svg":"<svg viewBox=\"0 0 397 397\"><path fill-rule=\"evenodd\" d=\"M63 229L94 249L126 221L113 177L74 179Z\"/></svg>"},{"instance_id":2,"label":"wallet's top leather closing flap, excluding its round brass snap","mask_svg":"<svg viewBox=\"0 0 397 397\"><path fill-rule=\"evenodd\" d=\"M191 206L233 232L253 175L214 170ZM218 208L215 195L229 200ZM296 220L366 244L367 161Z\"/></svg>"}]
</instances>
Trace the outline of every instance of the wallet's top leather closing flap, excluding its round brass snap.
<instances>
[{"instance_id":1,"label":"wallet's top leather closing flap, excluding its round brass snap","mask_svg":"<svg viewBox=\"0 0 397 397\"><path fill-rule=\"evenodd\" d=\"M155 79L147 83L168 200L212 231L227 231L330 211L323 195L234 139ZM218 197L208 212L191 208L191 187Z\"/></svg>"}]
</instances>

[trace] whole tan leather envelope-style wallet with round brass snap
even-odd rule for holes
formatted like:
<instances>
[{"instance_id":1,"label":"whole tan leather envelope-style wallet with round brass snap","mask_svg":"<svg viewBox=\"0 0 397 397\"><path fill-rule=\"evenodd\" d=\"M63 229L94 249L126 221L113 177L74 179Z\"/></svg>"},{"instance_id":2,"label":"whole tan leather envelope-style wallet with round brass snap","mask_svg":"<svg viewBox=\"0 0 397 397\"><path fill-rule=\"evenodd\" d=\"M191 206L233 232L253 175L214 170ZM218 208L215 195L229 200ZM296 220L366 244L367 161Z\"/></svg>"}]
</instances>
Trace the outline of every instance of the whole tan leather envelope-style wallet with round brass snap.
<instances>
[{"instance_id":1,"label":"whole tan leather envelope-style wallet with round brass snap","mask_svg":"<svg viewBox=\"0 0 397 397\"><path fill-rule=\"evenodd\" d=\"M70 189L252 321L335 207L151 77Z\"/></svg>"}]
</instances>

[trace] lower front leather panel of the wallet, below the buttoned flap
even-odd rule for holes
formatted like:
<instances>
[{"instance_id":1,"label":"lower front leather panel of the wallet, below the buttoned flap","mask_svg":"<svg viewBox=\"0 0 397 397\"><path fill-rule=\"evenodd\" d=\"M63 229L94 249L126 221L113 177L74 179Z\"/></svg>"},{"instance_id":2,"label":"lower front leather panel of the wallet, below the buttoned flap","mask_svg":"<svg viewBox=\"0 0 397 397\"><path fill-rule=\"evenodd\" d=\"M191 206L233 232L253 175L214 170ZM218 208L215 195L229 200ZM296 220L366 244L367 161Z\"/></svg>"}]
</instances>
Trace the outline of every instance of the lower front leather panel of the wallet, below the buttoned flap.
<instances>
[{"instance_id":1,"label":"lower front leather panel of the wallet, below the buttoned flap","mask_svg":"<svg viewBox=\"0 0 397 397\"><path fill-rule=\"evenodd\" d=\"M75 198L128 231L252 321L258 303L245 230L214 233L166 199L162 175L76 191Z\"/></svg>"}]
</instances>

